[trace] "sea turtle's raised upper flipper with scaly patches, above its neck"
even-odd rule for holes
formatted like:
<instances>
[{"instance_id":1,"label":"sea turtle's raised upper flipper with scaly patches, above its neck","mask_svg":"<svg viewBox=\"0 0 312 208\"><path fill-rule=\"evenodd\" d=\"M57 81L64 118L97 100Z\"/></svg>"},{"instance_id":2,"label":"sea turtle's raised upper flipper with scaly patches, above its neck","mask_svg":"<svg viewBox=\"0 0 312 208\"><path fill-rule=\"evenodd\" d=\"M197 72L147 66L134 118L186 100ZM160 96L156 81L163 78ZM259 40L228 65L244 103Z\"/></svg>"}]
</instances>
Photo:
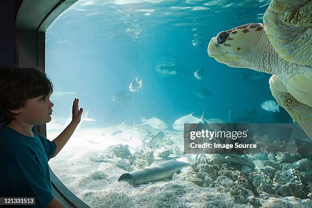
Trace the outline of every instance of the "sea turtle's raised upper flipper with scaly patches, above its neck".
<instances>
[{"instance_id":1,"label":"sea turtle's raised upper flipper with scaly patches, above its neck","mask_svg":"<svg viewBox=\"0 0 312 208\"><path fill-rule=\"evenodd\" d=\"M263 22L267 36L281 58L311 65L312 1L272 0Z\"/></svg>"}]
</instances>

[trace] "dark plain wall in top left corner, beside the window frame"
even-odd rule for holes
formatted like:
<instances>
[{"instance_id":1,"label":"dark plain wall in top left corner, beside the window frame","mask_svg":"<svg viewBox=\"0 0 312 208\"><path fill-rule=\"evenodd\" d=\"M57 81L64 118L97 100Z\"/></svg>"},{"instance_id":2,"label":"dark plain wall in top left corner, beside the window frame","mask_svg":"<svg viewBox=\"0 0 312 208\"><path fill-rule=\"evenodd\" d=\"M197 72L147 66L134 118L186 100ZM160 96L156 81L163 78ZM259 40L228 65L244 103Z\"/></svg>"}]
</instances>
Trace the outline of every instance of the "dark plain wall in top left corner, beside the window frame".
<instances>
[{"instance_id":1,"label":"dark plain wall in top left corner, beside the window frame","mask_svg":"<svg viewBox=\"0 0 312 208\"><path fill-rule=\"evenodd\" d=\"M0 1L0 67L15 65L15 17L21 3Z\"/></svg>"}]
</instances>

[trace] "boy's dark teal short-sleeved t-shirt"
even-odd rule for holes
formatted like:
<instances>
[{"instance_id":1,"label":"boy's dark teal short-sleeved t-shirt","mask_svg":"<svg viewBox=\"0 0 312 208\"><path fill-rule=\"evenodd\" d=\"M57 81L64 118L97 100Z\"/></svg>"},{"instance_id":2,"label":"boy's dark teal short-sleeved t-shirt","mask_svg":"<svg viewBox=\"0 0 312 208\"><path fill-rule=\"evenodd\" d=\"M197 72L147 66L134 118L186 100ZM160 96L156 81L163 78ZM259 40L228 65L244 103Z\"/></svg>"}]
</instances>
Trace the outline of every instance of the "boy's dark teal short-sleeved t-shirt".
<instances>
[{"instance_id":1,"label":"boy's dark teal short-sleeved t-shirt","mask_svg":"<svg viewBox=\"0 0 312 208\"><path fill-rule=\"evenodd\" d=\"M36 197L31 207L46 207L54 198L48 160L56 144L32 132L35 137L0 128L0 197Z\"/></svg>"}]
</instances>

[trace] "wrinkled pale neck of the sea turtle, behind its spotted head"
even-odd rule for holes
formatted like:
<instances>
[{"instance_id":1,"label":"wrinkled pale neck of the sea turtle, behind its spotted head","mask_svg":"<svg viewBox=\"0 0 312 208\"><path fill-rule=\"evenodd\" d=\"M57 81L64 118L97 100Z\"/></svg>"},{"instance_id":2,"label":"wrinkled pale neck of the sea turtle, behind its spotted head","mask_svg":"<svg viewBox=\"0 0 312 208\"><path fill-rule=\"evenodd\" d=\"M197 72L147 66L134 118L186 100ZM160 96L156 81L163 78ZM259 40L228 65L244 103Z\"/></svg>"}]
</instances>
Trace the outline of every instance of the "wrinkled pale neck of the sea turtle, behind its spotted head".
<instances>
[{"instance_id":1,"label":"wrinkled pale neck of the sea turtle, behind its spotted head","mask_svg":"<svg viewBox=\"0 0 312 208\"><path fill-rule=\"evenodd\" d=\"M280 74L280 66L283 62L275 52L265 31L245 60L247 68L271 74Z\"/></svg>"}]
</instances>

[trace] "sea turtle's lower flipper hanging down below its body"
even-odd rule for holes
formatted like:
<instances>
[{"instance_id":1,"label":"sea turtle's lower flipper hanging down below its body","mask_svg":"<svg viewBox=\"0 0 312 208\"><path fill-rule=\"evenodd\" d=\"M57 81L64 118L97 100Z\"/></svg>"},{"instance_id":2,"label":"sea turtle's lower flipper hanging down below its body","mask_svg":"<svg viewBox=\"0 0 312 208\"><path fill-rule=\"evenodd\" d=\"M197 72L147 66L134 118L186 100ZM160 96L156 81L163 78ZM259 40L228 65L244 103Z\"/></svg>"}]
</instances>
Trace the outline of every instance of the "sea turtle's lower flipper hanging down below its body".
<instances>
[{"instance_id":1,"label":"sea turtle's lower flipper hanging down below its body","mask_svg":"<svg viewBox=\"0 0 312 208\"><path fill-rule=\"evenodd\" d=\"M312 108L294 98L276 75L271 76L269 83L278 105L283 107L312 139Z\"/></svg>"}]
</instances>

